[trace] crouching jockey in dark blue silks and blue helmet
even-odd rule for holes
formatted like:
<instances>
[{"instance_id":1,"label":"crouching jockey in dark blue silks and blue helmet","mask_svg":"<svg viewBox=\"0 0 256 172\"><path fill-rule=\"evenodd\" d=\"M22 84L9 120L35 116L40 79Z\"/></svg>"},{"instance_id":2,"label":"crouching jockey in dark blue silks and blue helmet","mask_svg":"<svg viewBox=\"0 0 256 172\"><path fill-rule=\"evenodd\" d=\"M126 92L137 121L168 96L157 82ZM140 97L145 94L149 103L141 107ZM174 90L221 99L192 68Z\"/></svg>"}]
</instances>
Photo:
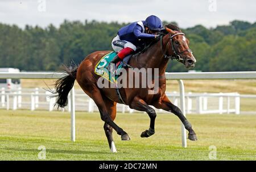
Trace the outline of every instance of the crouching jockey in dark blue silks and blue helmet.
<instances>
[{"instance_id":1,"label":"crouching jockey in dark blue silks and blue helmet","mask_svg":"<svg viewBox=\"0 0 256 172\"><path fill-rule=\"evenodd\" d=\"M122 27L117 36L112 41L112 47L118 54L110 63L116 63L123 60L127 55L136 51L137 46L141 45L143 40L158 39L156 35L163 28L162 21L155 15L150 15L146 20L133 22ZM108 69L110 71L110 63Z\"/></svg>"}]
</instances>

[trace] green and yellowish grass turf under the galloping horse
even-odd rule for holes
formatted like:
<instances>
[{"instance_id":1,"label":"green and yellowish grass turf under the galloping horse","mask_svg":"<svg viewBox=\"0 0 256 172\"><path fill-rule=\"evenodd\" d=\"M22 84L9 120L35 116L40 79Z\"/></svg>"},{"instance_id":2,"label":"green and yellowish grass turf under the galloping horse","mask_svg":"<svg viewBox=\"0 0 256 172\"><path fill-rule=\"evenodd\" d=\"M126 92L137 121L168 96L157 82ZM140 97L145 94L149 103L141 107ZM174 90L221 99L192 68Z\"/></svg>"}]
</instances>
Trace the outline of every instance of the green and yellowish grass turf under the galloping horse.
<instances>
[{"instance_id":1,"label":"green and yellowish grass turf under the galloping horse","mask_svg":"<svg viewBox=\"0 0 256 172\"><path fill-rule=\"evenodd\" d=\"M116 123L129 136L114 132L117 153L110 153L98 113L77 112L76 142L70 141L67 112L0 110L0 160L39 160L38 146L46 146L46 160L209 160L209 146L217 160L256 160L256 115L187 115L198 141L181 147L180 121L158 114L156 133L142 139L146 114L118 114Z\"/></svg>"}]
</instances>

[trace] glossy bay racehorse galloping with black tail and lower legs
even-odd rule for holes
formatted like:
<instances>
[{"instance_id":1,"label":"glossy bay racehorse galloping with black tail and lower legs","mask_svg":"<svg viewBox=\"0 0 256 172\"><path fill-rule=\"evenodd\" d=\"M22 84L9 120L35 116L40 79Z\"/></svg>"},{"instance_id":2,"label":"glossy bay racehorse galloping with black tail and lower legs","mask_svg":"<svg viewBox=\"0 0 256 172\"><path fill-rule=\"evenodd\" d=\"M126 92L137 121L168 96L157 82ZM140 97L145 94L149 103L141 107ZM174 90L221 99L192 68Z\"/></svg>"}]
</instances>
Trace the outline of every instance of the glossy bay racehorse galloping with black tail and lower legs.
<instances>
[{"instance_id":1,"label":"glossy bay racehorse galloping with black tail and lower legs","mask_svg":"<svg viewBox=\"0 0 256 172\"><path fill-rule=\"evenodd\" d=\"M123 98L123 101L121 101L115 93L114 88L99 88L97 81L100 75L94 73L94 67L110 51L97 51L89 54L78 67L72 70L67 69L65 72L68 75L58 79L55 83L57 93L56 104L58 107L67 106L68 93L72 89L75 80L77 80L82 90L94 100L100 111L101 119L105 122L104 130L108 139L109 148L112 152L117 152L112 137L113 129L118 135L121 135L121 140L130 140L129 135L114 123L117 103L125 103L131 109L144 111L148 114L150 117L150 128L143 131L141 137L150 137L155 133L156 112L154 108L149 106L151 105L175 114L188 130L188 139L197 140L191 123L185 118L180 108L172 104L165 94L165 72L168 60L175 58L184 64L186 68L192 68L195 66L196 59L188 47L189 40L178 27L168 24L165 30L161 31L161 34L160 40L152 44L144 53L131 58L129 61L129 65L133 66L133 68L159 69L159 77L153 78L153 80L158 79L159 82L159 89L156 94L148 94L148 90L151 89L149 87L121 88L119 89Z\"/></svg>"}]
</instances>

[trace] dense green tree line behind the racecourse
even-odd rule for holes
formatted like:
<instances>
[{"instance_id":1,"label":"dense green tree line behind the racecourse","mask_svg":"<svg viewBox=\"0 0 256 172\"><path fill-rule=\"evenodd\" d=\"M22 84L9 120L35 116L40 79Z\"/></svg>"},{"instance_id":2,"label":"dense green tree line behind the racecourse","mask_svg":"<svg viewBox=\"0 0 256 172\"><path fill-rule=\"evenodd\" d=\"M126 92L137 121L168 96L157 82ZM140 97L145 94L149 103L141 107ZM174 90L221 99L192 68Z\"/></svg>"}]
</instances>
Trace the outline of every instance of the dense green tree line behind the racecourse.
<instances>
[{"instance_id":1,"label":"dense green tree line behind the racecourse","mask_svg":"<svg viewBox=\"0 0 256 172\"><path fill-rule=\"evenodd\" d=\"M167 24L168 22L164 22ZM175 22L172 22L175 23ZM112 50L111 41L128 23L71 22L46 28L0 23L0 67L56 71L62 64L79 64L94 51ZM176 23L177 24L177 23ZM256 70L256 23L234 20L225 26L181 28L203 72ZM167 72L185 72L169 61Z\"/></svg>"}]
</instances>

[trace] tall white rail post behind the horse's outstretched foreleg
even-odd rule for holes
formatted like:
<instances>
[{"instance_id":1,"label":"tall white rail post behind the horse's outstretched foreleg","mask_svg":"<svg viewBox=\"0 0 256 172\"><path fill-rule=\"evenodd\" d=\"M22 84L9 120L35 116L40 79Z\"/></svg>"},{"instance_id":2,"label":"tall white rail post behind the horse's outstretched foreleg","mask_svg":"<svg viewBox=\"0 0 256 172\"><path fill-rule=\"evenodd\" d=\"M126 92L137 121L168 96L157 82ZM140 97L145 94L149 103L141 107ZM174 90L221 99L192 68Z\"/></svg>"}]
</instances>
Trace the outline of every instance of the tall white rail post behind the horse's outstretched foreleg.
<instances>
[{"instance_id":1,"label":"tall white rail post behind the horse's outstretched foreleg","mask_svg":"<svg viewBox=\"0 0 256 172\"><path fill-rule=\"evenodd\" d=\"M186 116L184 83L181 79L179 79L178 82L180 86L180 110L181 112L183 112L183 115ZM183 123L181 123L181 141L182 141L182 146L184 148L187 148L186 130Z\"/></svg>"}]
</instances>

